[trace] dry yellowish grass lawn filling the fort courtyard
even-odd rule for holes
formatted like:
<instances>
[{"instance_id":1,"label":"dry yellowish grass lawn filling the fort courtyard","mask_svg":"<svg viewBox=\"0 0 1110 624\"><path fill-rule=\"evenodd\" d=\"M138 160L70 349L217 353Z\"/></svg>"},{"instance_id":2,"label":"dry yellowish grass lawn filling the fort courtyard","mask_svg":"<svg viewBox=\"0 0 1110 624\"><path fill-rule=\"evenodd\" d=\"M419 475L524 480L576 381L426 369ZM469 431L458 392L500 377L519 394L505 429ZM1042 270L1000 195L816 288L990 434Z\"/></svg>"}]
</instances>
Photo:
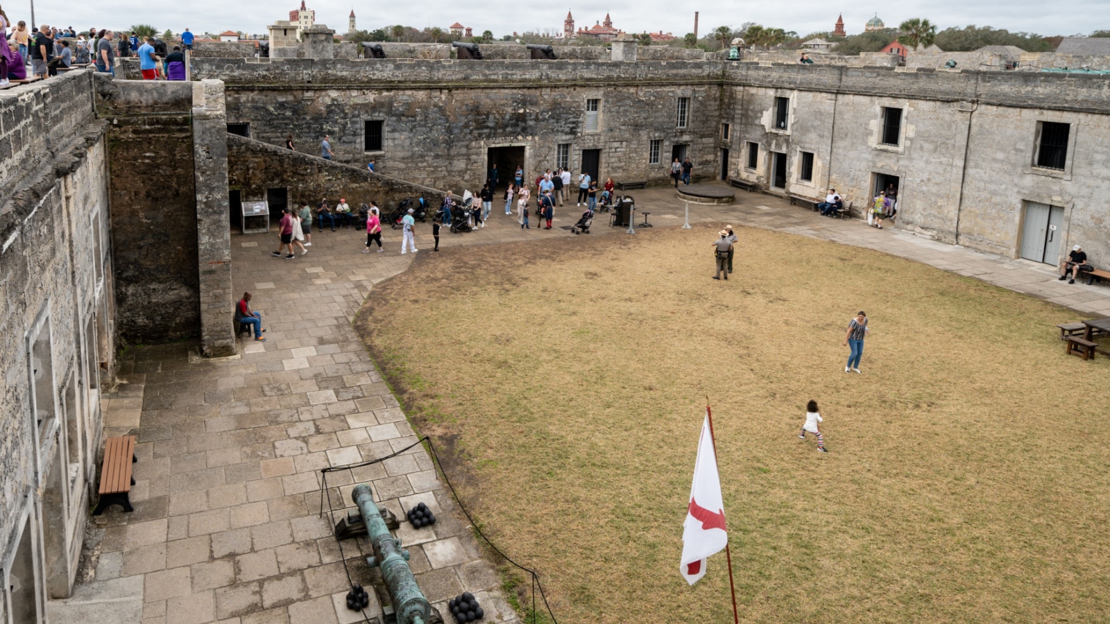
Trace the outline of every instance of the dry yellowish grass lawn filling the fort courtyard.
<instances>
[{"instance_id":1,"label":"dry yellowish grass lawn filling the fort courtyard","mask_svg":"<svg viewBox=\"0 0 1110 624\"><path fill-rule=\"evenodd\" d=\"M421 253L360 314L559 622L731 620L724 553L693 588L678 574L706 395L745 621L1106 621L1110 365L1064 355L1053 325L1077 315L738 234L728 282L705 228ZM797 437L808 399L828 455Z\"/></svg>"}]
</instances>

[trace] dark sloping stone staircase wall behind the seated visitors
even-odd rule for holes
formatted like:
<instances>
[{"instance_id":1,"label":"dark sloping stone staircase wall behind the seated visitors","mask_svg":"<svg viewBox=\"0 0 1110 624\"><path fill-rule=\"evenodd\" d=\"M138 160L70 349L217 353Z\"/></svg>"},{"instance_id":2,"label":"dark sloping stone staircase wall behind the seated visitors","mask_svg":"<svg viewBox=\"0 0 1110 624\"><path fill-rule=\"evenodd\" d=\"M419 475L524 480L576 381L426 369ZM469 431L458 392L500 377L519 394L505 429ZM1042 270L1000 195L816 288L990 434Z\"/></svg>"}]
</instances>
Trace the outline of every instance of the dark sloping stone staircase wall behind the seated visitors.
<instances>
[{"instance_id":1,"label":"dark sloping stone staircase wall behind the seated visitors","mask_svg":"<svg viewBox=\"0 0 1110 624\"><path fill-rule=\"evenodd\" d=\"M240 191L243 201L265 199L266 189L285 188L290 205L306 201L315 207L321 198L327 198L334 205L345 198L353 210L374 200L383 212L412 197L423 197L431 205L438 205L446 194L431 187L371 173L364 167L326 161L235 134L228 135L228 184ZM453 191L461 197L463 189Z\"/></svg>"}]
</instances>

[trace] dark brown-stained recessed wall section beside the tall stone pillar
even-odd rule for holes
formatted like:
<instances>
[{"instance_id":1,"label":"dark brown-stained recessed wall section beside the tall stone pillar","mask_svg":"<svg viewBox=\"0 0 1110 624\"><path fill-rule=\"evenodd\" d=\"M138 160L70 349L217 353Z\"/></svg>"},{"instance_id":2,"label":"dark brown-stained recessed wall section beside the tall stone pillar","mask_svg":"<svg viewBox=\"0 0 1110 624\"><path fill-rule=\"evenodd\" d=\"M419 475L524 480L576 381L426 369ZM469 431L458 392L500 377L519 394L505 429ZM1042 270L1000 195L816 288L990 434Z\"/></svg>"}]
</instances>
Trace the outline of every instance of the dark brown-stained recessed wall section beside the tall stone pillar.
<instances>
[{"instance_id":1,"label":"dark brown-stained recessed wall section beside the tall stone pillar","mask_svg":"<svg viewBox=\"0 0 1110 624\"><path fill-rule=\"evenodd\" d=\"M111 123L117 323L132 344L200 335L192 108L192 83L97 80Z\"/></svg>"}]
</instances>

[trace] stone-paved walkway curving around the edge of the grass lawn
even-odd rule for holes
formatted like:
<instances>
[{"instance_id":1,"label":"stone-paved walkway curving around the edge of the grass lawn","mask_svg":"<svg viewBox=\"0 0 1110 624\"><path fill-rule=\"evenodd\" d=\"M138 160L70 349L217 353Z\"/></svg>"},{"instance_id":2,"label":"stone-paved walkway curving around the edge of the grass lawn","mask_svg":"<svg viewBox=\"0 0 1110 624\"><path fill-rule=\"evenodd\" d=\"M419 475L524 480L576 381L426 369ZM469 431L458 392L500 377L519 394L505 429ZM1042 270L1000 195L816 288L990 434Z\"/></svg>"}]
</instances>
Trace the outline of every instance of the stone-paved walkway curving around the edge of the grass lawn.
<instances>
[{"instance_id":1,"label":"stone-paved walkway curving around the edge of the grass lawn","mask_svg":"<svg viewBox=\"0 0 1110 624\"><path fill-rule=\"evenodd\" d=\"M673 189L634 194L639 212L650 212L656 227L682 225L684 204ZM1110 315L1110 288L1059 282L1045 264L945 245L897 228L880 231L858 220L821 218L768 195L738 191L737 200L690 204L690 222L866 246L1067 305L1076 318ZM495 202L487 228L444 231L442 245L571 236L564 228L579 212L563 207L553 230L524 231ZM627 235L607 223L599 214L589 235ZM417 231L420 253L432 254L431 227L418 224ZM360 621L344 605L347 580L330 521L317 515L320 469L379 459L416 440L350 325L372 285L404 271L413 255L398 253L400 230L385 230L385 253L360 253L364 240L351 229L315 232L306 255L284 260L270 255L275 235L233 233L234 289L254 293L268 342L248 340L240 356L220 361L191 356L185 345L132 350L121 358L124 383L103 401L105 435L139 435L135 512L113 507L101 516L102 535L87 544L99 553L94 577L79 584L70 601L52 602L53 617ZM437 511L433 527L403 525L398 534L421 587L442 612L447 598L466 590L486 605L487 621L516 621L422 447L332 476L332 500L344 506L354 483L371 482L398 516L421 501ZM349 542L344 552L355 581L374 584L377 574L363 562L366 544Z\"/></svg>"}]
</instances>

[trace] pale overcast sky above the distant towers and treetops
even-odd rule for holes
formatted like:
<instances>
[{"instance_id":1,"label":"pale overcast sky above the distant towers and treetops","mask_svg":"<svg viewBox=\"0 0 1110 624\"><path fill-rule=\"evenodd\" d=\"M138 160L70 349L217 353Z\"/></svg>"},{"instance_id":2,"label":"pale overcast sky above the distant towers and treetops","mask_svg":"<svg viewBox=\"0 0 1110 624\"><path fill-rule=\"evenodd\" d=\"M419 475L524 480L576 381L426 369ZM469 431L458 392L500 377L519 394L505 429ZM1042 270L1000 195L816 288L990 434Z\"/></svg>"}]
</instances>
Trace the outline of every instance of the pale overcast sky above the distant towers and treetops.
<instances>
[{"instance_id":1,"label":"pale overcast sky above the distant towers and treetops","mask_svg":"<svg viewBox=\"0 0 1110 624\"><path fill-rule=\"evenodd\" d=\"M31 21L30 1L2 2L4 11L13 21ZM494 34L509 34L513 31L562 31L567 7L556 8L547 2L542 7L529 7L521 2L466 2L447 0L423 0L421 2L354 2L351 0L307 0L307 7L316 11L316 21L327 24L337 32L346 31L347 16L354 9L357 27L373 30L394 23L415 28L437 26L446 29L454 22L474 29L478 34L492 30ZM159 31L171 29L180 32L184 28L192 31L222 32L235 30L252 33L265 32L265 27L275 20L287 19L289 11L296 9L300 0L191 0L188 2L141 3L133 0L97 0L95 2L72 2L40 0L34 6L34 18L39 23L72 26L78 30L97 28L127 28L132 23L150 23ZM908 0L889 2L865 2L836 7L818 0L794 0L791 2L751 2L735 0L586 0L568 7L574 13L575 28L593 26L605 19L608 11L613 26L628 32L664 31L682 37L694 31L694 11L700 11L698 33L705 34L718 26L739 28L745 22L774 26L794 30L798 34L833 30L837 14L844 12L844 21L849 34L864 30L864 23L878 13L888 27L897 27L907 18L928 18L939 30L967 24L991 26L1011 31L1028 31L1039 34L1087 33L1097 29L1110 29L1110 0L1070 0L1066 4L1040 2L1038 0Z\"/></svg>"}]
</instances>

